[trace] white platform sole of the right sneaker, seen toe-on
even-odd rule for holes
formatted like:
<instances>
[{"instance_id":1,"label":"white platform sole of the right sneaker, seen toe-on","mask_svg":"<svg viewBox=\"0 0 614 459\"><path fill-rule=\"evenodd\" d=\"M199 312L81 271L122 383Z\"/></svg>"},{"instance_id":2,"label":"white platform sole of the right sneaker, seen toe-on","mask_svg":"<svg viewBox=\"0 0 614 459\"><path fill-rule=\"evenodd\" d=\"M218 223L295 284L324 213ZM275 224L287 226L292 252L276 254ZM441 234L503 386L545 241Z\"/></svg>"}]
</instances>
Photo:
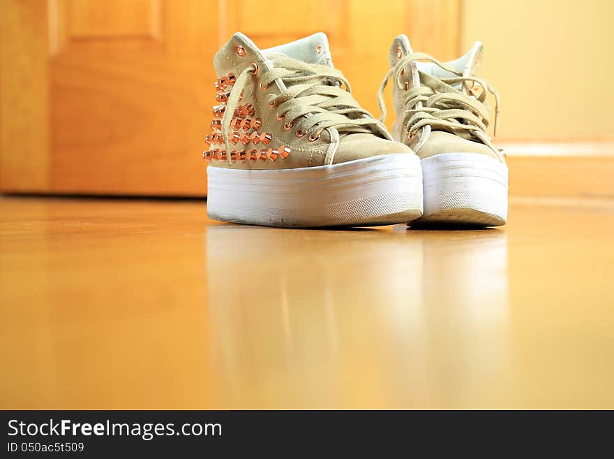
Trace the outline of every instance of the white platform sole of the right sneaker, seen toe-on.
<instances>
[{"instance_id":1,"label":"white platform sole of the right sneaker, seen toe-on","mask_svg":"<svg viewBox=\"0 0 614 459\"><path fill-rule=\"evenodd\" d=\"M442 153L421 161L420 225L501 226L507 222L507 166L479 153Z\"/></svg>"}]
</instances>

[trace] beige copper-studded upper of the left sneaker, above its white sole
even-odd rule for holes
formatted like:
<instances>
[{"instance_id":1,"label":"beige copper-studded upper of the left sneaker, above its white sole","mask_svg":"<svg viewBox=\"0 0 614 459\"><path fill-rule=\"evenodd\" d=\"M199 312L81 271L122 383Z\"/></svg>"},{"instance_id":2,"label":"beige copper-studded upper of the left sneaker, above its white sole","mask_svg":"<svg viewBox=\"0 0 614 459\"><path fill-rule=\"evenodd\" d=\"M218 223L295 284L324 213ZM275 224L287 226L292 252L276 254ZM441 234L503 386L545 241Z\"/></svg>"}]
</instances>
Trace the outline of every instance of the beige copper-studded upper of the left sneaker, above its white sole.
<instances>
[{"instance_id":1,"label":"beige copper-studded upper of the left sneaker, above its white sole","mask_svg":"<svg viewBox=\"0 0 614 459\"><path fill-rule=\"evenodd\" d=\"M302 168L412 154L353 99L325 34L260 50L237 33L214 66L218 105L204 152L210 166Z\"/></svg>"}]
</instances>

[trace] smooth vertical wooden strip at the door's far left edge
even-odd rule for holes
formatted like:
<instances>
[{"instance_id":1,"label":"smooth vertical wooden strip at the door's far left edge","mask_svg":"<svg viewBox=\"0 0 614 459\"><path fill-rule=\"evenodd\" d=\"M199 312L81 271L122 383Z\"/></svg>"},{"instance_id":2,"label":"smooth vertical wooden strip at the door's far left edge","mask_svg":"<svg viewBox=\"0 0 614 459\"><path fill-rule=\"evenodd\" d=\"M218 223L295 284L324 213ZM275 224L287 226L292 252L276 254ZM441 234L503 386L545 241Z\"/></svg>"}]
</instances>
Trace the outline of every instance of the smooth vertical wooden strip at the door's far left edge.
<instances>
[{"instance_id":1,"label":"smooth vertical wooden strip at the door's far left edge","mask_svg":"<svg viewBox=\"0 0 614 459\"><path fill-rule=\"evenodd\" d=\"M49 189L47 10L39 0L0 6L0 191Z\"/></svg>"}]
</instances>

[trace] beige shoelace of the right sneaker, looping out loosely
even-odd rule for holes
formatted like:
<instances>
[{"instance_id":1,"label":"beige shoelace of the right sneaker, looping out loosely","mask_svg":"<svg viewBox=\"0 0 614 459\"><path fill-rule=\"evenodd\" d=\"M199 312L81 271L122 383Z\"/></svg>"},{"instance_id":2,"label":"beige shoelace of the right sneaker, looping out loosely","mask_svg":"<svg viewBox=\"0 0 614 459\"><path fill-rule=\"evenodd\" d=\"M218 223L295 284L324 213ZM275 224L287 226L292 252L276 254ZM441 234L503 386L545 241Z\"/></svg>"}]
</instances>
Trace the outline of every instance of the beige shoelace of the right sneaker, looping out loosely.
<instances>
[{"instance_id":1,"label":"beige shoelace of the right sneaker, looping out loosely","mask_svg":"<svg viewBox=\"0 0 614 459\"><path fill-rule=\"evenodd\" d=\"M428 73L419 72L420 86L408 87L400 81L400 75L405 68L410 68L414 61L430 61L446 71L458 75L454 78L436 78ZM467 140L477 137L481 140L488 138L488 107L486 106L487 92L495 96L495 126L497 134L497 118L500 112L499 93L488 85L484 78L477 76L463 77L462 73L438 61L428 54L415 52L401 59L391 68L377 93L377 102L382 110L380 121L386 119L386 105L384 104L384 89L390 78L403 92L403 126L406 126L410 136L419 129L430 125L433 129L448 131ZM477 83L481 91L476 94L473 89L465 94L452 85L464 85L465 82Z\"/></svg>"}]
</instances>

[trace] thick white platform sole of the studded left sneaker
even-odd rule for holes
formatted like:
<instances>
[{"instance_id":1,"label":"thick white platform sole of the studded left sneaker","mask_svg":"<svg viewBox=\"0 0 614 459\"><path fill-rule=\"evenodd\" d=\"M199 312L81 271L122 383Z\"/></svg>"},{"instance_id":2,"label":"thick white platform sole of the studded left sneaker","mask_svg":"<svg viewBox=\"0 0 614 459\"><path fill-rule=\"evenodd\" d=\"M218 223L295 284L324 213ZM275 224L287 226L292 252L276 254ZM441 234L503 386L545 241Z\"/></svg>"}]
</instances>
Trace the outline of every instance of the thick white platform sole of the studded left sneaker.
<instances>
[{"instance_id":1,"label":"thick white platform sole of the studded left sneaker","mask_svg":"<svg viewBox=\"0 0 614 459\"><path fill-rule=\"evenodd\" d=\"M233 223L306 228L377 226L422 214L415 154L280 170L207 168L207 212Z\"/></svg>"}]
</instances>

